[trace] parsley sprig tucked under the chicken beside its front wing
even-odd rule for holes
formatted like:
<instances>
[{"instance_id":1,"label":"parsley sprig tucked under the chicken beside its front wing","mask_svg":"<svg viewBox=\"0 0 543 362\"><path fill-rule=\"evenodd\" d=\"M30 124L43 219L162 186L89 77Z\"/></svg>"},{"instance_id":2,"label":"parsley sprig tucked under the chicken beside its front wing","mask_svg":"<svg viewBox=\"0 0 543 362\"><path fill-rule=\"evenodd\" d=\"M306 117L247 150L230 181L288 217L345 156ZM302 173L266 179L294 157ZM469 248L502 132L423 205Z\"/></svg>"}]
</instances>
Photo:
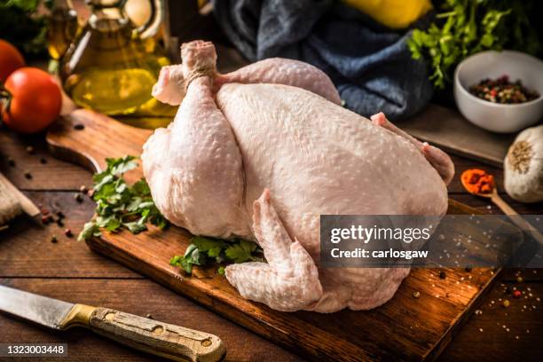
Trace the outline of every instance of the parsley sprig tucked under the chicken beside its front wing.
<instances>
[{"instance_id":1,"label":"parsley sprig tucked under the chicken beside its front wing","mask_svg":"<svg viewBox=\"0 0 543 362\"><path fill-rule=\"evenodd\" d=\"M253 261L263 261L262 249L254 242L248 240L221 240L194 236L191 244L186 248L184 256L174 256L169 264L190 274L193 271L193 265L208 265L210 263L245 263ZM224 275L224 266L218 271Z\"/></svg>"}]
</instances>

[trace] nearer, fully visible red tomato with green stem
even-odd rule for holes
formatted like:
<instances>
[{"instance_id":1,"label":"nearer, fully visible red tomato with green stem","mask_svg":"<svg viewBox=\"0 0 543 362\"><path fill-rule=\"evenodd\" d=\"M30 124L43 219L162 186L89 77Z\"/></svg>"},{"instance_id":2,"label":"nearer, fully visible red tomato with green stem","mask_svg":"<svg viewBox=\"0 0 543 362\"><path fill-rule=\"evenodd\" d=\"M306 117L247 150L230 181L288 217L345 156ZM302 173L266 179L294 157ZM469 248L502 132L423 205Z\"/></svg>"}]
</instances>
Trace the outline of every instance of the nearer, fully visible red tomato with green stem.
<instances>
[{"instance_id":1,"label":"nearer, fully visible red tomato with green stem","mask_svg":"<svg viewBox=\"0 0 543 362\"><path fill-rule=\"evenodd\" d=\"M5 81L11 95L10 106L4 110L4 123L21 133L44 130L60 114L62 95L51 75L33 67L23 67Z\"/></svg>"}]
</instances>

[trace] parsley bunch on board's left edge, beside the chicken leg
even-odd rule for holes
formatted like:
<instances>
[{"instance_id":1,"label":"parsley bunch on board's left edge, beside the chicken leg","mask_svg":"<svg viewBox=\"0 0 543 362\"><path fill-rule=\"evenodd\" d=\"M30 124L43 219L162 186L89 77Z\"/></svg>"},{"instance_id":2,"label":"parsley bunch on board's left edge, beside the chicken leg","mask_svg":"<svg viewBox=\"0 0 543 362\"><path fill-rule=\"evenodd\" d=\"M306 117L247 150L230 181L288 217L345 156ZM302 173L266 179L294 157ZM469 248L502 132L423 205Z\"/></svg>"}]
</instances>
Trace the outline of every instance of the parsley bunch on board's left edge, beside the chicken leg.
<instances>
[{"instance_id":1,"label":"parsley bunch on board's left edge, beside the chicken leg","mask_svg":"<svg viewBox=\"0 0 543 362\"><path fill-rule=\"evenodd\" d=\"M168 221L154 205L149 185L140 179L134 185L127 185L122 174L138 167L134 156L106 159L106 170L95 174L92 200L96 201L96 217L85 224L78 240L100 236L100 229L119 232L122 228L132 233L147 230L147 223L161 229Z\"/></svg>"}]
</instances>

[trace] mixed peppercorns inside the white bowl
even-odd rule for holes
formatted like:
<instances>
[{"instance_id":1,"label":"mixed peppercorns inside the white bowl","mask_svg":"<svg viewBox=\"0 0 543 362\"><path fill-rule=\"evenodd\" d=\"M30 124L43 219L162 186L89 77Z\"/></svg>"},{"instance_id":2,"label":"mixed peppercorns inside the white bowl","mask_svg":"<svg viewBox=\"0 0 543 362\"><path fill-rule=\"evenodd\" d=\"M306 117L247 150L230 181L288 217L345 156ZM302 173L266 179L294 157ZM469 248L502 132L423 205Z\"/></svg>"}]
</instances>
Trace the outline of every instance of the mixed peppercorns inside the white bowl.
<instances>
[{"instance_id":1,"label":"mixed peppercorns inside the white bowl","mask_svg":"<svg viewBox=\"0 0 543 362\"><path fill-rule=\"evenodd\" d=\"M524 103L539 98L539 93L524 87L520 79L514 83L509 82L508 75L495 80L485 78L469 87L469 92L477 98L501 104Z\"/></svg>"}]
</instances>

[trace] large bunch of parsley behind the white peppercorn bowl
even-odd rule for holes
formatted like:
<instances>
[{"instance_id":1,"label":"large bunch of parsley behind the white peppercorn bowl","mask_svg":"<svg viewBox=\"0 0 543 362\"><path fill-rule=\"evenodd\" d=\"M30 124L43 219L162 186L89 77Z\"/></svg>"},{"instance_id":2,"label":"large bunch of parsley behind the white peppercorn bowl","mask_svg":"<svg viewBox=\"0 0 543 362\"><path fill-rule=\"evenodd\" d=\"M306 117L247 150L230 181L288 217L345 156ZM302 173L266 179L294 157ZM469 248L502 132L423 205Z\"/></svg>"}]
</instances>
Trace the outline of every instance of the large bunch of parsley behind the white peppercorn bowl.
<instances>
[{"instance_id":1,"label":"large bunch of parsley behind the white peppercorn bowl","mask_svg":"<svg viewBox=\"0 0 543 362\"><path fill-rule=\"evenodd\" d=\"M429 59L438 89L453 79L460 61L479 51L514 49L538 54L539 36L528 18L532 1L446 0L425 31L414 29L407 45L413 59Z\"/></svg>"}]
</instances>

